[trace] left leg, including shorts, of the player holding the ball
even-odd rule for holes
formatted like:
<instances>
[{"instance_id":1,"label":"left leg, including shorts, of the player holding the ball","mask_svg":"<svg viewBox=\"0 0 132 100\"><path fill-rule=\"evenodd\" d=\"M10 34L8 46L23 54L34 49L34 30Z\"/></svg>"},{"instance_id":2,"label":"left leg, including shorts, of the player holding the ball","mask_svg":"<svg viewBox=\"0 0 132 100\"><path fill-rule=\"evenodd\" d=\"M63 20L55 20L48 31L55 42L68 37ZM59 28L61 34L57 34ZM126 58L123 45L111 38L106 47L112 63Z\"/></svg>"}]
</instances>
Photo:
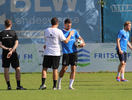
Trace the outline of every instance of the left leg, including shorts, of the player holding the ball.
<instances>
[{"instance_id":1,"label":"left leg, including shorts, of the player holding the ball","mask_svg":"<svg viewBox=\"0 0 132 100\"><path fill-rule=\"evenodd\" d=\"M58 83L57 83L57 89L61 89L61 80L64 76L64 73L66 72L69 65L69 54L63 54L62 56L62 69L59 73Z\"/></svg>"}]
</instances>

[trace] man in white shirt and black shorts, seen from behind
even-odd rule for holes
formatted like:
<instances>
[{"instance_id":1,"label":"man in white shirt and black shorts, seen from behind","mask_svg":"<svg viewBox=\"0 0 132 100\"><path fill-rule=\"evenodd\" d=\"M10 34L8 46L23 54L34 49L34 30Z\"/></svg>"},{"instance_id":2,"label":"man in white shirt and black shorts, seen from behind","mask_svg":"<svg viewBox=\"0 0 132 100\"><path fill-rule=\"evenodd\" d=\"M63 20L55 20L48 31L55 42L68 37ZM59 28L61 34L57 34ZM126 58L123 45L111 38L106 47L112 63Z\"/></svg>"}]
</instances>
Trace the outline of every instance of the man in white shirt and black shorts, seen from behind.
<instances>
[{"instance_id":1,"label":"man in white shirt and black shorts, seen from behind","mask_svg":"<svg viewBox=\"0 0 132 100\"><path fill-rule=\"evenodd\" d=\"M47 77L47 69L53 69L53 90L56 90L56 83L58 78L58 67L60 61L60 44L61 41L68 43L71 35L74 31L71 31L67 38L63 35L63 32L58 29L59 21L57 18L51 19L52 27L45 30L45 45L44 45L44 59L42 69L42 84L39 89L46 89L45 80Z\"/></svg>"}]
</instances>

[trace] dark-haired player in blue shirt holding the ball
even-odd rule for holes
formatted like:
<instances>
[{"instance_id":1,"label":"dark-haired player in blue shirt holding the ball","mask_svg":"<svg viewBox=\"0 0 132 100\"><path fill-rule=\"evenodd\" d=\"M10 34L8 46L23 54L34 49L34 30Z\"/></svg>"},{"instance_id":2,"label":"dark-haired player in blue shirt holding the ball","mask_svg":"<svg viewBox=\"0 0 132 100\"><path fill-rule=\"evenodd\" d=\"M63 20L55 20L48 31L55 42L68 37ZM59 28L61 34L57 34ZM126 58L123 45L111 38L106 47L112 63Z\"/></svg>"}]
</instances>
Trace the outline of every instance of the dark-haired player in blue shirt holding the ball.
<instances>
[{"instance_id":1,"label":"dark-haired player in blue shirt holding the ball","mask_svg":"<svg viewBox=\"0 0 132 100\"><path fill-rule=\"evenodd\" d=\"M57 89L61 89L61 80L62 80L62 77L64 76L64 73L65 73L66 69L68 68L69 64L71 65L69 89L74 89L72 87L72 85L73 85L74 78L75 78L75 72L76 72L76 66L77 66L77 60L78 60L77 49L76 49L76 46L74 43L75 43L76 39L81 39L83 41L83 43L80 44L80 47L84 47L85 42L81 38L81 36L78 34L78 32L75 29L71 28L72 22L70 19L66 19L64 21L64 26L65 26L65 28L62 31L63 31L63 34L65 35L65 37L67 37L69 35L70 31L72 31L72 30L74 30L74 34L71 36L71 38L67 44L64 44L64 42L62 42L62 50L63 50L62 69L59 73Z\"/></svg>"}]
</instances>

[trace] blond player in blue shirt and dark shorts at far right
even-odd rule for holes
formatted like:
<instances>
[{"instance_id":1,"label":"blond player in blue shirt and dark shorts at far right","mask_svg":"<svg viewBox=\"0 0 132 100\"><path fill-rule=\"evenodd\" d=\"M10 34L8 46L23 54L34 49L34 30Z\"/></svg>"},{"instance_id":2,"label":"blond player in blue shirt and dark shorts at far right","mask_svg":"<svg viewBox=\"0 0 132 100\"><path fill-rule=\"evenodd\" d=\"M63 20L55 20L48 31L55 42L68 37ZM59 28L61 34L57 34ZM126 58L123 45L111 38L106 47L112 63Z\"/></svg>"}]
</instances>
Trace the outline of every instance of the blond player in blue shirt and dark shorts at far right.
<instances>
[{"instance_id":1,"label":"blond player in blue shirt and dark shorts at far right","mask_svg":"<svg viewBox=\"0 0 132 100\"><path fill-rule=\"evenodd\" d=\"M118 32L117 36L117 54L120 60L120 64L118 66L118 72L117 72L117 81L128 81L124 78L124 72L125 72L125 66L127 61L127 45L130 49L132 49L130 43L129 43L129 32L131 30L131 22L127 21L124 23L124 29L120 30ZM121 79L120 79L121 74Z\"/></svg>"}]
</instances>

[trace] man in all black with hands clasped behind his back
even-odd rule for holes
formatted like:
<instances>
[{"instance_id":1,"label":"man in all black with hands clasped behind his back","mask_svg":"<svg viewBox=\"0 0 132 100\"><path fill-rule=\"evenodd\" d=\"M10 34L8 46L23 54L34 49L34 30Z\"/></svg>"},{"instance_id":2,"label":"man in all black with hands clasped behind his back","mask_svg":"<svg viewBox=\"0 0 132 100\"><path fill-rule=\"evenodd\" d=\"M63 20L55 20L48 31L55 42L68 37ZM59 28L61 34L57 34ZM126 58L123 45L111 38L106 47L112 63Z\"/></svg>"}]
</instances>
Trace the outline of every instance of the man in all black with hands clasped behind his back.
<instances>
[{"instance_id":1,"label":"man in all black with hands clasped behind his back","mask_svg":"<svg viewBox=\"0 0 132 100\"><path fill-rule=\"evenodd\" d=\"M2 67L4 68L5 81L7 83L7 90L11 90L9 79L10 64L16 71L17 90L25 90L20 85L20 67L19 59L16 52L18 46L18 37L15 31L11 30L12 22L9 19L5 20L5 30L0 33L0 47L2 48Z\"/></svg>"}]
</instances>

